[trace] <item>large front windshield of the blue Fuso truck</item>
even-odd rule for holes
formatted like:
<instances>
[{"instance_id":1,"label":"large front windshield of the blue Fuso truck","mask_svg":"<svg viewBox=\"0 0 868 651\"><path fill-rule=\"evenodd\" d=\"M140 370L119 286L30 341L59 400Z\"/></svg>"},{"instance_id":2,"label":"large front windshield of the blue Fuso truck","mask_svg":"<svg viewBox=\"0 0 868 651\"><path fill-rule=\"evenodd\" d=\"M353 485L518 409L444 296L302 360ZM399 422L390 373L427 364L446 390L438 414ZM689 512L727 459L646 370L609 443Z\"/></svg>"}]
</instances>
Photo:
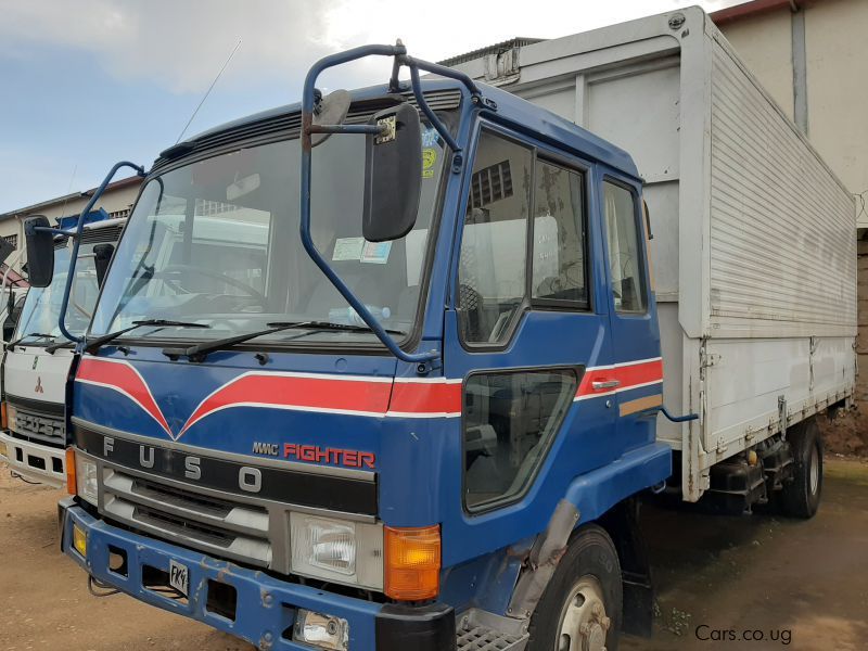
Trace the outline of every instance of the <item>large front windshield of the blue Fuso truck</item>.
<instances>
[{"instance_id":1,"label":"large front windshield of the blue Fuso truck","mask_svg":"<svg viewBox=\"0 0 868 651\"><path fill-rule=\"evenodd\" d=\"M423 130L414 229L394 242L361 237L365 138L332 136L314 150L311 234L337 275L388 329L412 330L443 169L443 143ZM208 329L144 327L129 337L209 340L276 321L361 321L304 251L298 235L299 141L241 149L148 182L115 254L94 335L145 319ZM396 189L400 191L400 189ZM375 341L370 332L271 333L257 340Z\"/></svg>"}]
</instances>

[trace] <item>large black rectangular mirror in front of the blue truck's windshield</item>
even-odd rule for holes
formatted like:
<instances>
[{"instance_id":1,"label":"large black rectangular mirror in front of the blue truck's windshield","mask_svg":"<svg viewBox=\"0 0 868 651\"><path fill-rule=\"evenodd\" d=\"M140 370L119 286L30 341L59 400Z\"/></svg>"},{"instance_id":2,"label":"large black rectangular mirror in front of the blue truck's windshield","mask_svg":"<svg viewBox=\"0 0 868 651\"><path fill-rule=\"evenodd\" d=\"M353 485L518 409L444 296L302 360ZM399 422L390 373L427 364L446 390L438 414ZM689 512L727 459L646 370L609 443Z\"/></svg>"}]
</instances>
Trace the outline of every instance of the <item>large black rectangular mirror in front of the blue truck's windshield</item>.
<instances>
[{"instance_id":1,"label":"large black rectangular mirror in front of the blue truck's windshield","mask_svg":"<svg viewBox=\"0 0 868 651\"><path fill-rule=\"evenodd\" d=\"M369 242L388 242L412 230L422 190L422 125L410 104L376 113L369 124L385 127L368 136L365 212L361 233Z\"/></svg>"}]
</instances>

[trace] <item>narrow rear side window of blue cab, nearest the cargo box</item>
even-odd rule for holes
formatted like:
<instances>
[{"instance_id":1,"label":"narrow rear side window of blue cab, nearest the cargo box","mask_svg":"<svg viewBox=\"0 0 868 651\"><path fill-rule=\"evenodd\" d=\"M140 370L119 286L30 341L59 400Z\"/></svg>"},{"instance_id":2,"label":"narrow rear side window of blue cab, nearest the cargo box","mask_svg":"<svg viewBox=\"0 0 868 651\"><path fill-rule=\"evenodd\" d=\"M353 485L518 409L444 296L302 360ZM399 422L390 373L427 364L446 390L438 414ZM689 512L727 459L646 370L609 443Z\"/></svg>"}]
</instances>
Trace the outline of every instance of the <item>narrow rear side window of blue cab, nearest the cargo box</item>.
<instances>
[{"instance_id":1,"label":"narrow rear side window of blue cab, nearest the cargo box","mask_svg":"<svg viewBox=\"0 0 868 651\"><path fill-rule=\"evenodd\" d=\"M636 195L622 186L605 181L603 209L615 311L644 312L648 307L647 285Z\"/></svg>"}]
</instances>

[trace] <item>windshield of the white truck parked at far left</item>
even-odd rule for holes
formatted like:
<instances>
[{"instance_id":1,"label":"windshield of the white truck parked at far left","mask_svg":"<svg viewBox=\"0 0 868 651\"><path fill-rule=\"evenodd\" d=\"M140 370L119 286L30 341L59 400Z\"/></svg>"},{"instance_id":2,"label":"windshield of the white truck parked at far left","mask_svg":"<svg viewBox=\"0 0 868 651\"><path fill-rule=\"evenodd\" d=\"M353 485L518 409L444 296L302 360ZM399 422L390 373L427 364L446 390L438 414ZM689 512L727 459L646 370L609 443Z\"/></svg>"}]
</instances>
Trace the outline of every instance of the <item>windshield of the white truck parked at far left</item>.
<instances>
[{"instance_id":1,"label":"windshield of the white truck parked at far left","mask_svg":"<svg viewBox=\"0 0 868 651\"><path fill-rule=\"evenodd\" d=\"M87 330L99 294L97 267L93 260L94 244L90 242L78 247L75 281L69 294L69 307L66 310L66 328L76 336L82 335ZM21 339L22 344L48 346L58 341L66 341L61 334L58 321L68 271L69 242L67 241L54 250L54 276L51 284L46 288L30 288L27 292L15 332L15 339Z\"/></svg>"}]
</instances>

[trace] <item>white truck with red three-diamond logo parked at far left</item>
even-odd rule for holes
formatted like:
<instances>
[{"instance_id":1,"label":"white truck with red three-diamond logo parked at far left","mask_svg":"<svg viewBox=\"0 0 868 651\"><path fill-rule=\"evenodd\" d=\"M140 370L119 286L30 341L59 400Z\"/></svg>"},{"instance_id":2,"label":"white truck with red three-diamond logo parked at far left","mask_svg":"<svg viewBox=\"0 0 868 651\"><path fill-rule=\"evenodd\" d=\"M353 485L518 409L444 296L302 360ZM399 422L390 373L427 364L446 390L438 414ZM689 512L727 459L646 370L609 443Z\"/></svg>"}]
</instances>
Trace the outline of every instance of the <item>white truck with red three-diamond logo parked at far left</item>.
<instances>
[{"instance_id":1,"label":"white truck with red three-diamond logo parked at far left","mask_svg":"<svg viewBox=\"0 0 868 651\"><path fill-rule=\"evenodd\" d=\"M72 285L66 326L84 333L99 293L98 254L111 254L126 218L86 224ZM54 276L47 288L33 288L3 359L3 432L0 455L21 477L61 487L66 483L66 383L74 360L72 343L58 327L72 240L54 241ZM107 259L106 259L107 263Z\"/></svg>"}]
</instances>

